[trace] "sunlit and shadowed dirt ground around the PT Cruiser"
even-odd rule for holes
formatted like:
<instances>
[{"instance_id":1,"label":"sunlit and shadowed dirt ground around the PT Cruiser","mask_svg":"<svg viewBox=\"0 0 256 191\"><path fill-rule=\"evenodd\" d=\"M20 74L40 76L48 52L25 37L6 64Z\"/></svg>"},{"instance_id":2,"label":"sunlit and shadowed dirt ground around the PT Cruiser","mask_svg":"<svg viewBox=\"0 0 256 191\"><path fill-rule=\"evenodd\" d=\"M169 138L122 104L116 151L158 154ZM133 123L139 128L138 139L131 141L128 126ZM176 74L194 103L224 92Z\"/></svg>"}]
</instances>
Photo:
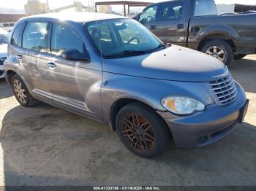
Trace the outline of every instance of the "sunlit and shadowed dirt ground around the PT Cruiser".
<instances>
[{"instance_id":1,"label":"sunlit and shadowed dirt ground around the PT Cruiser","mask_svg":"<svg viewBox=\"0 0 256 191\"><path fill-rule=\"evenodd\" d=\"M229 66L250 99L244 123L209 147L154 160L108 126L47 104L24 108L0 80L0 185L256 185L256 55Z\"/></svg>"}]
</instances>

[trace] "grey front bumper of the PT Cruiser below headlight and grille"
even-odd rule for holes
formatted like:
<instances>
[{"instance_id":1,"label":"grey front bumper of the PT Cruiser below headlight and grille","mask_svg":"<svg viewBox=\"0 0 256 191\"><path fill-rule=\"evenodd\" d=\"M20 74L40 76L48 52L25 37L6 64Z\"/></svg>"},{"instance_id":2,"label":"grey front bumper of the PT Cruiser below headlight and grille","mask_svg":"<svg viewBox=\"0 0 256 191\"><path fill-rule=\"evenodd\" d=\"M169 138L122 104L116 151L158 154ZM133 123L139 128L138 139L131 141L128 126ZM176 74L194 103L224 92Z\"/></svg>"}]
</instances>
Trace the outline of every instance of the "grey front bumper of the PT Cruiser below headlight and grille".
<instances>
[{"instance_id":1,"label":"grey front bumper of the PT Cruiser below headlight and grille","mask_svg":"<svg viewBox=\"0 0 256 191\"><path fill-rule=\"evenodd\" d=\"M180 117L173 117L170 112L159 112L170 128L176 147L203 147L223 139L235 130L241 122L241 109L246 104L244 90L238 84L236 87L236 101L227 106L213 104L207 106L203 112Z\"/></svg>"}]
</instances>

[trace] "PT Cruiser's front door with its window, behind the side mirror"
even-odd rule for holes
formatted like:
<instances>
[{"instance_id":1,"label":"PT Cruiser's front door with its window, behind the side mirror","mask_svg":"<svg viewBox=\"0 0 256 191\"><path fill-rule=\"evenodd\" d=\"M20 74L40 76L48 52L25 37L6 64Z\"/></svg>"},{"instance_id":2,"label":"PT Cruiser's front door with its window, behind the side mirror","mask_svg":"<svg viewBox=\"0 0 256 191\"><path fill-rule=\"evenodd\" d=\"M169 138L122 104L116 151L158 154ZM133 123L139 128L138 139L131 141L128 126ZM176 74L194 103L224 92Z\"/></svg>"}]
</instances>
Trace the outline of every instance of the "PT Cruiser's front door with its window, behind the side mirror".
<instances>
[{"instance_id":1,"label":"PT Cruiser's front door with its window, behind the side mirror","mask_svg":"<svg viewBox=\"0 0 256 191\"><path fill-rule=\"evenodd\" d=\"M75 27L67 23L52 24L48 65L53 79L53 103L72 112L101 120L100 87L102 71L91 61L67 61L64 50L78 50L89 55L86 44Z\"/></svg>"}]
</instances>

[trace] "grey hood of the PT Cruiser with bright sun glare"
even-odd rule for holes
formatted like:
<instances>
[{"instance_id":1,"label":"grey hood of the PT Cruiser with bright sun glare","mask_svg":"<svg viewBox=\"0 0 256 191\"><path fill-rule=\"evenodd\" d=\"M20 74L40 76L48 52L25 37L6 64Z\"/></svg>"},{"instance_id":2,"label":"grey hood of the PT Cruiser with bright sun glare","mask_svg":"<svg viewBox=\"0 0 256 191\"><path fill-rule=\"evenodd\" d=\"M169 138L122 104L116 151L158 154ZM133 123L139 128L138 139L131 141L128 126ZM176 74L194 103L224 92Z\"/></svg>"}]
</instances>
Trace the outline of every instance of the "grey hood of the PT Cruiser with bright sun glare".
<instances>
[{"instance_id":1,"label":"grey hood of the PT Cruiser with bright sun glare","mask_svg":"<svg viewBox=\"0 0 256 191\"><path fill-rule=\"evenodd\" d=\"M103 71L154 79L208 82L224 74L226 67L202 52L171 45L145 55L103 59Z\"/></svg>"}]
</instances>

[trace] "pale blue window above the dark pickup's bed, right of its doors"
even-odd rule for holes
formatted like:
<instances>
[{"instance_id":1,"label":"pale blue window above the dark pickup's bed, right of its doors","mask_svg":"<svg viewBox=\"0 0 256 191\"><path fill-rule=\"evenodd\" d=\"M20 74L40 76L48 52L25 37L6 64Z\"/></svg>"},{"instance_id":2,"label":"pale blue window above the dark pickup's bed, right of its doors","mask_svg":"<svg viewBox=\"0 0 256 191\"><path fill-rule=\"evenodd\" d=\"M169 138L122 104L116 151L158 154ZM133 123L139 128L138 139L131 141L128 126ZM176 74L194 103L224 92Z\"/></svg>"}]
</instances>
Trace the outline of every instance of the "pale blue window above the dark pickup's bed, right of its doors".
<instances>
[{"instance_id":1,"label":"pale blue window above the dark pickup's bed, right of its doors","mask_svg":"<svg viewBox=\"0 0 256 191\"><path fill-rule=\"evenodd\" d=\"M214 0L196 0L194 16L217 15L217 7Z\"/></svg>"}]
</instances>

